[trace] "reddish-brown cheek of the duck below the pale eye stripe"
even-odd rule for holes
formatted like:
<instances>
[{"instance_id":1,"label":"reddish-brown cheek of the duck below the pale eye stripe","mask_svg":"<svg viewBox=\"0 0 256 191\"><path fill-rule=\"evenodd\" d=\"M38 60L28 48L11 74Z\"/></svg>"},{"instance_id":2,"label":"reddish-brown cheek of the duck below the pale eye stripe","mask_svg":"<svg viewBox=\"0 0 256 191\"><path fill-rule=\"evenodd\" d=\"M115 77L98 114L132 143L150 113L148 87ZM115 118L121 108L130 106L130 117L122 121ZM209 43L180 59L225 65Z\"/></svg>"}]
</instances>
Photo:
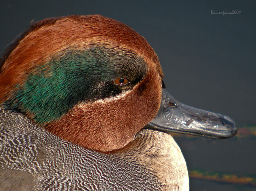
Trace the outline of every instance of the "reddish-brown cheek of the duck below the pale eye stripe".
<instances>
[{"instance_id":1,"label":"reddish-brown cheek of the duck below the pale eye stripe","mask_svg":"<svg viewBox=\"0 0 256 191\"><path fill-rule=\"evenodd\" d=\"M45 128L85 148L101 152L120 149L155 117L161 102L161 91L160 76L154 69L125 96L108 103L80 103Z\"/></svg>"}]
</instances>

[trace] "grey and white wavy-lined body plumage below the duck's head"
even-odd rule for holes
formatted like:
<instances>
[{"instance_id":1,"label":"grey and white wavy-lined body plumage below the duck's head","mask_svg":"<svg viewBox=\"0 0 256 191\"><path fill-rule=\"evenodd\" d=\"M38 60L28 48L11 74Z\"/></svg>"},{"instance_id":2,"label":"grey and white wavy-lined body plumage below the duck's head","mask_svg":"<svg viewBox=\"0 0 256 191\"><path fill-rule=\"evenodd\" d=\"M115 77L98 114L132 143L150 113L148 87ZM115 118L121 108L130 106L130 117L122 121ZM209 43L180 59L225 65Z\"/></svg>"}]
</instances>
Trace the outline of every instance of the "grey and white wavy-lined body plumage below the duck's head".
<instances>
[{"instance_id":1,"label":"grey and white wavy-lined body plumage below the duck's head","mask_svg":"<svg viewBox=\"0 0 256 191\"><path fill-rule=\"evenodd\" d=\"M162 189L156 173L132 154L82 148L0 108L0 190Z\"/></svg>"}]
</instances>

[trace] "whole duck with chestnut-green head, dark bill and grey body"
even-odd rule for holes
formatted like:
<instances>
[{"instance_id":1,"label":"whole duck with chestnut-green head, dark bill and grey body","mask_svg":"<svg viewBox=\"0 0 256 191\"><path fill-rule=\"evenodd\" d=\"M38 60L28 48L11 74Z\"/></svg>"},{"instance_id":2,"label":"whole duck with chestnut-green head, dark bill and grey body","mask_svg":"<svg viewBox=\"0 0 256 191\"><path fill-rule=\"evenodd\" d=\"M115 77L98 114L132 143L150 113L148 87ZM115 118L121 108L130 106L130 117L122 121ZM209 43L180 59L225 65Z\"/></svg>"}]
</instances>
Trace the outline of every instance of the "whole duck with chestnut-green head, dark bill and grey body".
<instances>
[{"instance_id":1,"label":"whole duck with chestnut-green head, dark bill and grey body","mask_svg":"<svg viewBox=\"0 0 256 191\"><path fill-rule=\"evenodd\" d=\"M236 134L174 99L144 37L101 15L31 23L0 68L0 190L189 190L170 132Z\"/></svg>"}]
</instances>

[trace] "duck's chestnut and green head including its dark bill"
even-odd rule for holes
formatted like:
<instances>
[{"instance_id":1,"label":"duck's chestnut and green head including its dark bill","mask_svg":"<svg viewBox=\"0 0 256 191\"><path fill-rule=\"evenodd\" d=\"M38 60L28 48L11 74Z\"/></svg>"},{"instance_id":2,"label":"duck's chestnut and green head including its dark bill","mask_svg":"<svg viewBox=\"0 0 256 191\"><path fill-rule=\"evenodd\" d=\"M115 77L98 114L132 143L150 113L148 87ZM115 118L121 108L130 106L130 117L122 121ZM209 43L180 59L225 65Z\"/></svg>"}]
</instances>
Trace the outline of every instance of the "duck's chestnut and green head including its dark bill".
<instances>
[{"instance_id":1,"label":"duck's chestnut and green head including its dark bill","mask_svg":"<svg viewBox=\"0 0 256 191\"><path fill-rule=\"evenodd\" d=\"M162 94L163 72L151 46L101 15L34 23L1 65L0 103L85 148L123 148L143 127L218 138L236 132L228 117Z\"/></svg>"}]
</instances>

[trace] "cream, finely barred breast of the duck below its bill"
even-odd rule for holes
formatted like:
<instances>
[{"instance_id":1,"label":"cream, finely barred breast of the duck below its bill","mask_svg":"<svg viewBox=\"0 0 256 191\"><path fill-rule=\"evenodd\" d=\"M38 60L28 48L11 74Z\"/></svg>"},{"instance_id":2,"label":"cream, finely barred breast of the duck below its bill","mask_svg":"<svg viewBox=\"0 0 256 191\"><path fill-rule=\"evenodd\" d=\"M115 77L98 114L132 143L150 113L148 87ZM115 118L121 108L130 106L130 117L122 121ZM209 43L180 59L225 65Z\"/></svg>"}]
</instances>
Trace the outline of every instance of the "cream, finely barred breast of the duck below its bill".
<instances>
[{"instance_id":1,"label":"cream, finely barred breast of the duck below its bill","mask_svg":"<svg viewBox=\"0 0 256 191\"><path fill-rule=\"evenodd\" d=\"M185 159L170 134L142 129L132 142L115 154L145 165L160 180L163 190L189 189Z\"/></svg>"}]
</instances>

